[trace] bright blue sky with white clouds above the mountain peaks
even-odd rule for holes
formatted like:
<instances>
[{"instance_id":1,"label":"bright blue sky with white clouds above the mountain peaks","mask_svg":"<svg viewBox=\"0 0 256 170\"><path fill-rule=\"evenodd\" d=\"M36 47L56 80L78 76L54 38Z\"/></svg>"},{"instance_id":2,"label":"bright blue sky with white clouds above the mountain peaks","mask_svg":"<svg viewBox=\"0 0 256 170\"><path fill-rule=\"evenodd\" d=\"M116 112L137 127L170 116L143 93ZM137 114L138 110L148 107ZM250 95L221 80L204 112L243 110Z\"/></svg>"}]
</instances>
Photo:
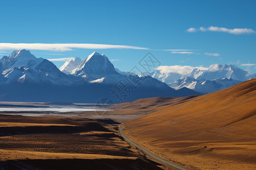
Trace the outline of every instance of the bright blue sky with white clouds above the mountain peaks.
<instances>
[{"instance_id":1,"label":"bright blue sky with white clouds above the mountain peaks","mask_svg":"<svg viewBox=\"0 0 256 170\"><path fill-rule=\"evenodd\" d=\"M0 44L0 57L24 43L48 59L96 50L123 71L151 52L162 66L226 63L256 73L256 1L1 0L0 7L0 43L10 43Z\"/></svg>"}]
</instances>

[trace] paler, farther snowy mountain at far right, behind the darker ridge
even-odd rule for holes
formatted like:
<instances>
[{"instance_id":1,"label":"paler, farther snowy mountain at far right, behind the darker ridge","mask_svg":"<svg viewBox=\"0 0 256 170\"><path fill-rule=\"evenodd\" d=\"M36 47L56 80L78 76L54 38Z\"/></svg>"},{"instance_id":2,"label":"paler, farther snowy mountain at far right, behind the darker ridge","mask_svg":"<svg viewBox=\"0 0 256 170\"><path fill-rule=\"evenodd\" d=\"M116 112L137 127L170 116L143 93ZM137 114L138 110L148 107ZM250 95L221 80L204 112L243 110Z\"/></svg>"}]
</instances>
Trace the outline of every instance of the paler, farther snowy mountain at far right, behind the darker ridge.
<instances>
[{"instance_id":1,"label":"paler, farther snowy mountain at far right, behind the darker ridge","mask_svg":"<svg viewBox=\"0 0 256 170\"><path fill-rule=\"evenodd\" d=\"M206 79L206 80L214 80L214 79L223 79L223 78L232 78L234 80L245 81L250 78L255 78L255 75L250 75L247 71L238 68L236 65L219 65L214 64L209 67L208 70L199 70L194 69L188 75L195 79Z\"/></svg>"}]
</instances>

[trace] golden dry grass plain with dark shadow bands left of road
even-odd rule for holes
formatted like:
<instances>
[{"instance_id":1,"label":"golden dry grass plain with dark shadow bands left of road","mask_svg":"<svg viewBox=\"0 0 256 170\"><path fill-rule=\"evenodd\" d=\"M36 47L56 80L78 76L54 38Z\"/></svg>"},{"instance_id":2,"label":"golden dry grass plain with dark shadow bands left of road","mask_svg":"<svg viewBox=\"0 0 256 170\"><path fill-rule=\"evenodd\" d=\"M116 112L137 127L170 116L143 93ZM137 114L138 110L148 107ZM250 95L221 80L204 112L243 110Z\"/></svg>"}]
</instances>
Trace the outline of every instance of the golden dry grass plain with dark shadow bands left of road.
<instances>
[{"instance_id":1,"label":"golden dry grass plain with dark shadow bands left of road","mask_svg":"<svg viewBox=\"0 0 256 170\"><path fill-rule=\"evenodd\" d=\"M123 141L117 125L82 117L0 114L0 169L162 167Z\"/></svg>"}]
</instances>

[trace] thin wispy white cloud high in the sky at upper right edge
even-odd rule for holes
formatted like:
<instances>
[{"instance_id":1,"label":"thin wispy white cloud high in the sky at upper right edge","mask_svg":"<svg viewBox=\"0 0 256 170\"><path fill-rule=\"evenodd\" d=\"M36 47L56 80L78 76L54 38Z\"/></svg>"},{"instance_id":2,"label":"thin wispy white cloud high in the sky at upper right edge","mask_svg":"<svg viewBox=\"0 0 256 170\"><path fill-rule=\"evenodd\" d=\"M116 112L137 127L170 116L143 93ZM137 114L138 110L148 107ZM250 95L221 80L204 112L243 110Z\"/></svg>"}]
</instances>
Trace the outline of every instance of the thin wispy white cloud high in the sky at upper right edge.
<instances>
[{"instance_id":1,"label":"thin wispy white cloud high in the sky at upper right edge","mask_svg":"<svg viewBox=\"0 0 256 170\"><path fill-rule=\"evenodd\" d=\"M229 29L229 28L224 28L224 27L214 27L214 26L210 26L208 28L204 28L204 27L200 27L199 29L197 28L188 28L187 32L196 32L196 31L212 31L212 32L228 32L228 33L232 33L232 34L245 34L245 33L255 33L255 31L251 28L233 28L233 29Z\"/></svg>"}]
</instances>

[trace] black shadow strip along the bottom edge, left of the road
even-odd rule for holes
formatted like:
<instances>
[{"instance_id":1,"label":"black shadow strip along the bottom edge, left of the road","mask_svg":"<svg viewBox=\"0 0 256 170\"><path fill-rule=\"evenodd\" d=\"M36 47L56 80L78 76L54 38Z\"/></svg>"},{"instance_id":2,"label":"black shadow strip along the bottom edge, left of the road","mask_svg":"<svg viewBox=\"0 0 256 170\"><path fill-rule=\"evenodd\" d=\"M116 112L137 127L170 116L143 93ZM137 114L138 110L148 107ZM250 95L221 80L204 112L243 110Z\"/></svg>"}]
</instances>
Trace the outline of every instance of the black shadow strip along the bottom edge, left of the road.
<instances>
[{"instance_id":1,"label":"black shadow strip along the bottom edge, left of the road","mask_svg":"<svg viewBox=\"0 0 256 170\"><path fill-rule=\"evenodd\" d=\"M0 169L160 169L142 159L36 159L7 160Z\"/></svg>"}]
</instances>

